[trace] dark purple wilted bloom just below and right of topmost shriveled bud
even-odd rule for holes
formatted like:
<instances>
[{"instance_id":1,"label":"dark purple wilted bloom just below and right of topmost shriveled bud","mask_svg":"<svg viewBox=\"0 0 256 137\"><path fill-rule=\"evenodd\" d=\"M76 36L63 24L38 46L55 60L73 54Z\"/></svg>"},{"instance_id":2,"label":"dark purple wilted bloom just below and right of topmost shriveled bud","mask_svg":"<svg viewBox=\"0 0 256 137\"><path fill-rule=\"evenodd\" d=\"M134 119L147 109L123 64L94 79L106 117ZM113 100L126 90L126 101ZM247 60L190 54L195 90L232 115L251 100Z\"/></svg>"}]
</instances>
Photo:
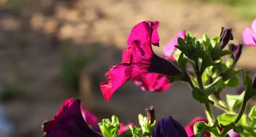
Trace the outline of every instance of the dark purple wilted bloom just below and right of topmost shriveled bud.
<instances>
[{"instance_id":1,"label":"dark purple wilted bloom just below and right of topmost shriveled bud","mask_svg":"<svg viewBox=\"0 0 256 137\"><path fill-rule=\"evenodd\" d=\"M234 44L229 45L229 50L233 51L233 54L231 55L231 58L233 59L233 66L236 65L238 59L240 58L242 49L243 49L243 44L239 44L237 46Z\"/></svg>"}]
</instances>

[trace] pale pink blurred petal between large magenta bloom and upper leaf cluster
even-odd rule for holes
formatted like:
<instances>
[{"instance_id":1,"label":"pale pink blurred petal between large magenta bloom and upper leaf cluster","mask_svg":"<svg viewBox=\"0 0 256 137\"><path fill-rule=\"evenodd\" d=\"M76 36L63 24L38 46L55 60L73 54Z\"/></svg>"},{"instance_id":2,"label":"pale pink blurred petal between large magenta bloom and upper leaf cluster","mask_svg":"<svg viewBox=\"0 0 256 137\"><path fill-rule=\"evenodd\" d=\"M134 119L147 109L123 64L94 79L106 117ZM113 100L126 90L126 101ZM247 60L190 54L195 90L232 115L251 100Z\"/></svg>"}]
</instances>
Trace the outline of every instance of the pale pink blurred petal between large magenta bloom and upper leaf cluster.
<instances>
[{"instance_id":1,"label":"pale pink blurred petal between large magenta bloom and upper leaf cluster","mask_svg":"<svg viewBox=\"0 0 256 137\"><path fill-rule=\"evenodd\" d=\"M179 45L178 44L179 37L186 40L186 31L184 31L184 30L180 31L174 37L174 39L172 39L165 47L163 47L163 53L165 56L172 56L173 50L177 50L177 48L175 48L175 45Z\"/></svg>"}]
</instances>

